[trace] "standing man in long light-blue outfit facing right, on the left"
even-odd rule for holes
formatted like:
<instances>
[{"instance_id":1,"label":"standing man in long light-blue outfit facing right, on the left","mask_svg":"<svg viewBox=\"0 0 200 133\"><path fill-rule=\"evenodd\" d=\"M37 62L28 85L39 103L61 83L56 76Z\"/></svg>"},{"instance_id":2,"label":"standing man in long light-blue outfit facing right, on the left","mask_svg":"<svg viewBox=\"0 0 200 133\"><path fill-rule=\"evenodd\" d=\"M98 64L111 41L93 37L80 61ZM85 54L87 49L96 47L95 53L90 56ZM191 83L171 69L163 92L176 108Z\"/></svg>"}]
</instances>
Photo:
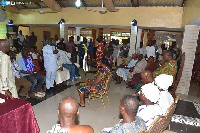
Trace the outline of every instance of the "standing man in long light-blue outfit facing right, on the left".
<instances>
[{"instance_id":1,"label":"standing man in long light-blue outfit facing right, on the left","mask_svg":"<svg viewBox=\"0 0 200 133\"><path fill-rule=\"evenodd\" d=\"M46 91L50 92L50 88L54 87L54 80L56 78L57 71L57 53L55 48L55 40L51 39L50 44L47 44L43 48L44 67L46 69Z\"/></svg>"}]
</instances>

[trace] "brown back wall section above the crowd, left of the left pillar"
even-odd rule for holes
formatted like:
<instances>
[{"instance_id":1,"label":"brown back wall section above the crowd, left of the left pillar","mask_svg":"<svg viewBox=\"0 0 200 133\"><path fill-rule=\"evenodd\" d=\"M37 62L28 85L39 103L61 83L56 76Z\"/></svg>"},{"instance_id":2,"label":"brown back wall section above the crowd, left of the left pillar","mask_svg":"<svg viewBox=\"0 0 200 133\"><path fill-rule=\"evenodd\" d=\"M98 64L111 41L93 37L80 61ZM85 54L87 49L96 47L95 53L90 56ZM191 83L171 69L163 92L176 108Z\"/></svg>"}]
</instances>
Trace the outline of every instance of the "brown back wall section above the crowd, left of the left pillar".
<instances>
[{"instance_id":1,"label":"brown back wall section above the crowd, left of the left pillar","mask_svg":"<svg viewBox=\"0 0 200 133\"><path fill-rule=\"evenodd\" d=\"M59 27L36 27L36 26L31 26L30 27L30 33L34 32L35 35L38 38L37 43L36 43L36 46L37 46L38 50L42 49L43 31L50 31L51 32L51 38L54 38L55 34L57 34L58 38L60 38L60 28Z\"/></svg>"}]
</instances>

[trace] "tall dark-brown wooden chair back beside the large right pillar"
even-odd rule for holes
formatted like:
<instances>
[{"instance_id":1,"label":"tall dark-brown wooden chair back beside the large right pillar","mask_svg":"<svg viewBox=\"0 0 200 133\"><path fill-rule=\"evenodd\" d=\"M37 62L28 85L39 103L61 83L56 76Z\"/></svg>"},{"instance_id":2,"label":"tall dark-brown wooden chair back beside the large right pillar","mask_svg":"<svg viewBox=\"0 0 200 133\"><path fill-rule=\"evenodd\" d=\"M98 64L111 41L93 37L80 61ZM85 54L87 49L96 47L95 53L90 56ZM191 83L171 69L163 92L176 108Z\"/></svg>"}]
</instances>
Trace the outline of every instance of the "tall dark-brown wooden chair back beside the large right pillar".
<instances>
[{"instance_id":1,"label":"tall dark-brown wooden chair back beside the large right pillar","mask_svg":"<svg viewBox=\"0 0 200 133\"><path fill-rule=\"evenodd\" d=\"M175 99L176 98L176 89L177 89L177 86L178 86L178 83L181 79L181 76L182 76L182 72L183 72L183 67L184 67L184 63L185 63L185 52L183 52L182 54L182 62L181 62L181 67L179 69L179 73L177 75L177 78L176 80L173 82L173 90L172 91L169 91L171 94L172 94L172 97Z\"/></svg>"}]
</instances>

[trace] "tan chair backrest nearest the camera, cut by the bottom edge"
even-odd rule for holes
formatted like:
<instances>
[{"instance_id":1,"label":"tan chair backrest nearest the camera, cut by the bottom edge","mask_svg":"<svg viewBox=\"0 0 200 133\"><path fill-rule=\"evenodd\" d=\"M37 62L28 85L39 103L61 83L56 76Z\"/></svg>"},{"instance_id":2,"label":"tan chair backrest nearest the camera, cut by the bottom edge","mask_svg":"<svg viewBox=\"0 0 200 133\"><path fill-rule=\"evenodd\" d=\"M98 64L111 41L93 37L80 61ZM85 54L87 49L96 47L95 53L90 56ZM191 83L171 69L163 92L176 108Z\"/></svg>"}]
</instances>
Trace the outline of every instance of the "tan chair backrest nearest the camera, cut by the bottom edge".
<instances>
[{"instance_id":1,"label":"tan chair backrest nearest the camera, cut by the bottom edge","mask_svg":"<svg viewBox=\"0 0 200 133\"><path fill-rule=\"evenodd\" d=\"M155 119L151 125L147 128L146 131L140 132L140 133L162 133L165 130L165 123L166 119L164 116L160 116L157 119Z\"/></svg>"}]
</instances>

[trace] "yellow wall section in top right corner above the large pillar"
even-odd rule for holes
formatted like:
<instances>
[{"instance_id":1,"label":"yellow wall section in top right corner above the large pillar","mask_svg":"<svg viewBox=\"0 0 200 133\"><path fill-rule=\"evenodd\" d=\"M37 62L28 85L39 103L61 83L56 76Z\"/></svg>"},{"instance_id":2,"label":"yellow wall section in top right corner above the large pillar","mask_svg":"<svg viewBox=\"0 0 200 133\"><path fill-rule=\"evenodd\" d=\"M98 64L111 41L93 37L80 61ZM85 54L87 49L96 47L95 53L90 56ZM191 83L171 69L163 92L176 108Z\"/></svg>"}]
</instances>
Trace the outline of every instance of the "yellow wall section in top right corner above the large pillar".
<instances>
[{"instance_id":1,"label":"yellow wall section in top right corner above the large pillar","mask_svg":"<svg viewBox=\"0 0 200 133\"><path fill-rule=\"evenodd\" d=\"M200 1L199 0L187 0L183 9L183 19L181 27L189 24L200 16Z\"/></svg>"}]
</instances>

